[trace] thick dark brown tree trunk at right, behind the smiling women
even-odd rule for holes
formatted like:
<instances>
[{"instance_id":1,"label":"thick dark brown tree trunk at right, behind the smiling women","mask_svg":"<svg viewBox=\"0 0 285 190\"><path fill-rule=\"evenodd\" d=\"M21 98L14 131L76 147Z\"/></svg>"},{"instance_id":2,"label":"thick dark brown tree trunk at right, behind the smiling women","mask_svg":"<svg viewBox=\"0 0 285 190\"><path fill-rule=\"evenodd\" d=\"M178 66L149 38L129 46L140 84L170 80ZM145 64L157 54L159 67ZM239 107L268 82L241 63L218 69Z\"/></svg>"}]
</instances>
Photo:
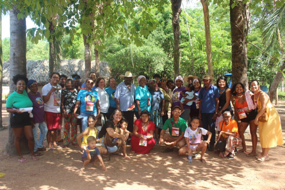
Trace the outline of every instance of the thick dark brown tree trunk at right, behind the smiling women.
<instances>
[{"instance_id":1,"label":"thick dark brown tree trunk at right, behind the smiling women","mask_svg":"<svg viewBox=\"0 0 285 190\"><path fill-rule=\"evenodd\" d=\"M231 5L236 2L236 6ZM233 84L241 82L248 89L247 82L247 58L245 52L245 5L242 0L230 0L231 21L231 70Z\"/></svg>"}]
</instances>

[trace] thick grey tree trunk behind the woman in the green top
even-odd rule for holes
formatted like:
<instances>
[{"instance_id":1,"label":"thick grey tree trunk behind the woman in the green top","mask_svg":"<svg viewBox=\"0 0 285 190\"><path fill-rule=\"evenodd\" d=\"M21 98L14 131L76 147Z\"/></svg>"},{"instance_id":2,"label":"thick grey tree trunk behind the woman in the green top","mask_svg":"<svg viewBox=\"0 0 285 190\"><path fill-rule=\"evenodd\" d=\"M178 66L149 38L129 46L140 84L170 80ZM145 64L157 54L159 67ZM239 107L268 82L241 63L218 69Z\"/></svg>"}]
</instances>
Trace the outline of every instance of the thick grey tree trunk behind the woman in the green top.
<instances>
[{"instance_id":1,"label":"thick grey tree trunk behind the woman in the green top","mask_svg":"<svg viewBox=\"0 0 285 190\"><path fill-rule=\"evenodd\" d=\"M19 10L14 6L10 10L10 94L14 92L16 86L13 84L13 76L16 74L27 74L26 70L26 18L17 18ZM10 118L9 114L9 118ZM22 153L29 152L28 141L24 134L20 140ZM14 145L14 133L9 126L8 141L5 153L16 155Z\"/></svg>"}]
</instances>

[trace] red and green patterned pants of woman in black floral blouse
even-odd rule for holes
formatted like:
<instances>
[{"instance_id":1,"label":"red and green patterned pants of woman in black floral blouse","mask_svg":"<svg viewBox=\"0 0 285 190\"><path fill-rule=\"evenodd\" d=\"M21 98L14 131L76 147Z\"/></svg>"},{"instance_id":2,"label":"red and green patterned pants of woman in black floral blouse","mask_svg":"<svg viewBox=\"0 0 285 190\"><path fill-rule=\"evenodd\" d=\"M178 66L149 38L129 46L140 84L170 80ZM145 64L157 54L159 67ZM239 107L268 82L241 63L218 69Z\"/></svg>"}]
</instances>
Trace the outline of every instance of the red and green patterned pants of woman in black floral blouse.
<instances>
[{"instance_id":1,"label":"red and green patterned pants of woman in black floral blouse","mask_svg":"<svg viewBox=\"0 0 285 190\"><path fill-rule=\"evenodd\" d=\"M67 118L64 118L64 129L63 129L63 145L68 145L71 138L71 143L77 143L77 119L72 113L67 114ZM71 135L70 135L71 131Z\"/></svg>"}]
</instances>

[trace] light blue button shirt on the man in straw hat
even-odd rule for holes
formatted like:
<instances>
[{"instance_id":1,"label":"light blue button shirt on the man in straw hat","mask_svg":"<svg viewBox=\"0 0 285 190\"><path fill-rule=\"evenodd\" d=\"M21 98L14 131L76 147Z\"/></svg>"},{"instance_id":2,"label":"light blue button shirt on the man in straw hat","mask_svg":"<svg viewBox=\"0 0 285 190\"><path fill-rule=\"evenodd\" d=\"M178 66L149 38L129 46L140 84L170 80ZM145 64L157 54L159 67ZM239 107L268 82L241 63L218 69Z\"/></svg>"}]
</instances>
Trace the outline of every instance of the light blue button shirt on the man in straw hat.
<instances>
[{"instance_id":1,"label":"light blue button shirt on the man in straw hat","mask_svg":"<svg viewBox=\"0 0 285 190\"><path fill-rule=\"evenodd\" d=\"M128 111L128 108L134 104L136 86L131 83L131 91L125 84L125 81L121 82L115 91L115 98L120 100L120 110Z\"/></svg>"}]
</instances>

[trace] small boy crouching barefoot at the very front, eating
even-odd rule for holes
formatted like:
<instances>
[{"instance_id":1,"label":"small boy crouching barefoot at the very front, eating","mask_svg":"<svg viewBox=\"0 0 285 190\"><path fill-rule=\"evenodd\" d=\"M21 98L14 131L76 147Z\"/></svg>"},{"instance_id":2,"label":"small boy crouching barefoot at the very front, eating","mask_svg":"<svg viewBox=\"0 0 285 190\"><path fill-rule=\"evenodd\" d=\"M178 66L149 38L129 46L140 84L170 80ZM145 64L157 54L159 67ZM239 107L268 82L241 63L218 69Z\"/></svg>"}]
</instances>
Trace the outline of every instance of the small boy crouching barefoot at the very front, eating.
<instances>
[{"instance_id":1,"label":"small boy crouching barefoot at the very front, eating","mask_svg":"<svg viewBox=\"0 0 285 190\"><path fill-rule=\"evenodd\" d=\"M88 136L87 138L87 148L84 150L81 160L83 161L83 166L80 171L83 172L85 167L89 163L93 163L92 166L95 166L98 160L101 162L102 170L106 171L107 168L104 165L103 159L100 155L100 151L96 148L96 138L94 136Z\"/></svg>"}]
</instances>

